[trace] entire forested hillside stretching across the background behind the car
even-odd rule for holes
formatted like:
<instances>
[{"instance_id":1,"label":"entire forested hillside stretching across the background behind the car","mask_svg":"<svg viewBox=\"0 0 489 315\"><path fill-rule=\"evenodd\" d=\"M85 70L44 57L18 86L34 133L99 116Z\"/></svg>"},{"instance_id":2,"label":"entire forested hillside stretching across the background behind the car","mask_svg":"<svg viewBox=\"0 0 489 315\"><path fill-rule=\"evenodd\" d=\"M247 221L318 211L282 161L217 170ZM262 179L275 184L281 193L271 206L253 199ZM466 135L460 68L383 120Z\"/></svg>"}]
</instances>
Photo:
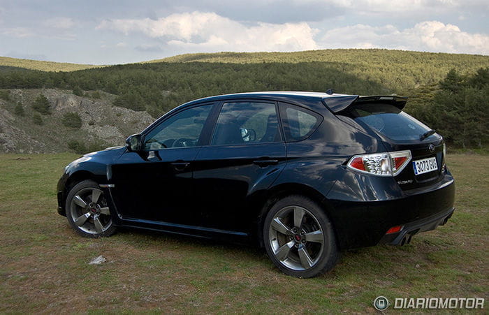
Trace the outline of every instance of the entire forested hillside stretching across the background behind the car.
<instances>
[{"instance_id":1,"label":"entire forested hillside stretching across the background behind the car","mask_svg":"<svg viewBox=\"0 0 489 315\"><path fill-rule=\"evenodd\" d=\"M244 91L333 88L345 94L397 94L409 97L407 112L444 131L449 142L483 146L488 141L483 128L489 120L489 56L399 50L220 52L66 72L54 72L59 64L52 69L43 64L43 70L52 71L26 70L29 66L17 60L5 64L0 59L4 95L10 89L64 89L78 96L101 91L114 96L114 105L158 117L195 98ZM448 83L440 85L443 80ZM474 112L476 117L469 117ZM469 119L470 126L460 125ZM471 140L474 134L481 138Z\"/></svg>"}]
</instances>

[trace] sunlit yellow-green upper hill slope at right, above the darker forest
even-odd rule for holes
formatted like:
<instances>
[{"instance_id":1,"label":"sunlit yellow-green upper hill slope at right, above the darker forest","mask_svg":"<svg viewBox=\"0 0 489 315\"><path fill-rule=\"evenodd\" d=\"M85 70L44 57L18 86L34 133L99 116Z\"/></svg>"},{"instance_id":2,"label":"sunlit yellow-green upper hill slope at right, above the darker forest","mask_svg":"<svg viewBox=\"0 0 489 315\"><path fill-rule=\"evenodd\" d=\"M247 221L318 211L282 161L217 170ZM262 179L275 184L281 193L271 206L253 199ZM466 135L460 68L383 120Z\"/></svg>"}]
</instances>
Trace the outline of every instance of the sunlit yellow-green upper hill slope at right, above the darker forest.
<instances>
[{"instance_id":1,"label":"sunlit yellow-green upper hill slope at right, above the darker forest","mask_svg":"<svg viewBox=\"0 0 489 315\"><path fill-rule=\"evenodd\" d=\"M489 66L489 56L384 49L309 50L305 52L217 52L180 54L149 62L218 62L229 64L321 62L358 78L374 80L405 91L419 85L437 84L451 69L474 73ZM325 78L326 80L326 78Z\"/></svg>"}]
</instances>

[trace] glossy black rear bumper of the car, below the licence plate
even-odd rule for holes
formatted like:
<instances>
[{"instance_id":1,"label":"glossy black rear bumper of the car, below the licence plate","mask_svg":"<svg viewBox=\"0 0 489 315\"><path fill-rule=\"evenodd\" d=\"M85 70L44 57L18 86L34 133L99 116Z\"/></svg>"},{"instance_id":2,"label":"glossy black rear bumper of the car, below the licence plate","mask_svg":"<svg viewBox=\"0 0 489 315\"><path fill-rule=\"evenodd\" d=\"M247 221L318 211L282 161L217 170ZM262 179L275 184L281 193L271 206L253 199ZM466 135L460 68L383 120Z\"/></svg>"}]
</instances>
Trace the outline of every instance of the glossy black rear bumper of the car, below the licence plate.
<instances>
[{"instance_id":1,"label":"glossy black rear bumper of the car, below the licence plate","mask_svg":"<svg viewBox=\"0 0 489 315\"><path fill-rule=\"evenodd\" d=\"M455 182L447 174L434 186L404 191L391 200L344 201L330 200L333 221L340 249L369 247L377 244L402 244L404 237L434 230L446 223L454 211ZM402 229L386 234L394 226Z\"/></svg>"}]
</instances>

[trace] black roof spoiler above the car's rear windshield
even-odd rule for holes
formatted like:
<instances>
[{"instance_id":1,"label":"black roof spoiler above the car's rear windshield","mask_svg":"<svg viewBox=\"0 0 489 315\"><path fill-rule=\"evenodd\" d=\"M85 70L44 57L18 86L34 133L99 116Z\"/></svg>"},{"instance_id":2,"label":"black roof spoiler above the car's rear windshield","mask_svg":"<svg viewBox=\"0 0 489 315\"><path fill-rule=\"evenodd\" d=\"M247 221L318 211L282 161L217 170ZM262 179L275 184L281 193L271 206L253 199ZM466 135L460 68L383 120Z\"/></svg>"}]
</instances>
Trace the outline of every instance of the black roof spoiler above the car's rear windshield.
<instances>
[{"instance_id":1,"label":"black roof spoiler above the car's rear windshield","mask_svg":"<svg viewBox=\"0 0 489 315\"><path fill-rule=\"evenodd\" d=\"M337 113L342 110L346 110L351 105L365 104L365 103L384 103L394 105L402 110L406 105L407 97L403 96L391 96L391 95L374 95L374 96L358 96L358 95L345 95L345 96L333 96L323 98L323 103L332 112Z\"/></svg>"}]
</instances>

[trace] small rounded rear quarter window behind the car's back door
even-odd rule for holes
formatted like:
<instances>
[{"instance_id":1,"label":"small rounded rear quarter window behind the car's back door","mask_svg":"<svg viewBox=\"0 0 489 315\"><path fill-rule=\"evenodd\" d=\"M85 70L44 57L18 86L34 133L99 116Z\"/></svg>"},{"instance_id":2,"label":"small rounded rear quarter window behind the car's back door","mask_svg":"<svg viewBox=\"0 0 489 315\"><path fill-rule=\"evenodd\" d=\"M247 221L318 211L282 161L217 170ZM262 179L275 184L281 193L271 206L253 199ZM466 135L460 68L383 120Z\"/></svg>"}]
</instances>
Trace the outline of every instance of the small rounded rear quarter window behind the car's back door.
<instances>
[{"instance_id":1,"label":"small rounded rear quarter window behind the car's back door","mask_svg":"<svg viewBox=\"0 0 489 315\"><path fill-rule=\"evenodd\" d=\"M284 112L284 131L288 142L309 137L322 121L315 112L298 106L286 105Z\"/></svg>"}]
</instances>

